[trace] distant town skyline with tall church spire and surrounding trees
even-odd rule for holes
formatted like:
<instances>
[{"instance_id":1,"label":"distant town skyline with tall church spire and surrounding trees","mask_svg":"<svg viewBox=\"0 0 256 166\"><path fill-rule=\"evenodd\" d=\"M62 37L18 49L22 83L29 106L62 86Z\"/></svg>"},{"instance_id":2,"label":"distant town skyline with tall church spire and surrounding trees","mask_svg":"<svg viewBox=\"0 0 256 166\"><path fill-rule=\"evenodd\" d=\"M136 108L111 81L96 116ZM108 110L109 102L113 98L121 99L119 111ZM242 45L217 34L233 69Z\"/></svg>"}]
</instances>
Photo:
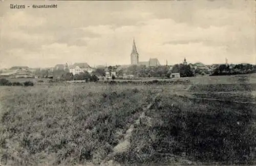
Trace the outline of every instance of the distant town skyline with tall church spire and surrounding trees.
<instances>
[{"instance_id":1,"label":"distant town skyline with tall church spire and surrounding trees","mask_svg":"<svg viewBox=\"0 0 256 166\"><path fill-rule=\"evenodd\" d=\"M7 78L54 78L68 80L79 78L80 74L95 75L98 78L134 79L143 77L196 77L211 75L233 75L256 73L254 64L241 63L229 64L225 59L222 64L206 65L201 62L188 63L184 57L183 62L175 65L160 64L158 58L150 58L148 61L139 61L135 40L133 40L130 65L90 66L87 62L77 62L72 65L56 64L48 68L30 68L29 66L13 66L0 70L1 77Z\"/></svg>"}]
</instances>

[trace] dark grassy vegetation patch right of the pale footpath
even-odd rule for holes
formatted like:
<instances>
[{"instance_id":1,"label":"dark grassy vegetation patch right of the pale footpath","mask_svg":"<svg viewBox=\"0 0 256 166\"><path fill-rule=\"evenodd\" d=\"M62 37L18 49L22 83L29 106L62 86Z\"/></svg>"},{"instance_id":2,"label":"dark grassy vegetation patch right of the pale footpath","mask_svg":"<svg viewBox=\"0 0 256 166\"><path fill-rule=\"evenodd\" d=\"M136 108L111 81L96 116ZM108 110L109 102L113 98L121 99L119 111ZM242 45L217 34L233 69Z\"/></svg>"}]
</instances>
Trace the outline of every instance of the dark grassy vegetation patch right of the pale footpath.
<instances>
[{"instance_id":1,"label":"dark grassy vegetation patch right of the pale footpath","mask_svg":"<svg viewBox=\"0 0 256 166\"><path fill-rule=\"evenodd\" d=\"M139 163L162 163L174 156L202 162L253 161L254 107L161 96L145 113L150 121L134 130L131 149L125 155Z\"/></svg>"}]
</instances>

